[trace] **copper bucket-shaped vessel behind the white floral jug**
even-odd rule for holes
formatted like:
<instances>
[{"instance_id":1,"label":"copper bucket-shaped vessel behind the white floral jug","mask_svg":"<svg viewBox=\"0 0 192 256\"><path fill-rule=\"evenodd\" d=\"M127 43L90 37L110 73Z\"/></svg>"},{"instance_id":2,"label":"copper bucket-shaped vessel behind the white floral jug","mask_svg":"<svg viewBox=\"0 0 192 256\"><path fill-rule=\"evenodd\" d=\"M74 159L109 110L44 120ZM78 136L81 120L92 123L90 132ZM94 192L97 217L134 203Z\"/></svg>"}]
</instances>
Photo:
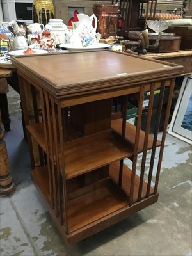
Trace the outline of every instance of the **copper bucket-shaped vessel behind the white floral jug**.
<instances>
[{"instance_id":1,"label":"copper bucket-shaped vessel behind the white floral jug","mask_svg":"<svg viewBox=\"0 0 192 256\"><path fill-rule=\"evenodd\" d=\"M93 13L96 15L97 32L101 34L102 39L109 36L116 36L118 29L119 6L94 4Z\"/></svg>"}]
</instances>

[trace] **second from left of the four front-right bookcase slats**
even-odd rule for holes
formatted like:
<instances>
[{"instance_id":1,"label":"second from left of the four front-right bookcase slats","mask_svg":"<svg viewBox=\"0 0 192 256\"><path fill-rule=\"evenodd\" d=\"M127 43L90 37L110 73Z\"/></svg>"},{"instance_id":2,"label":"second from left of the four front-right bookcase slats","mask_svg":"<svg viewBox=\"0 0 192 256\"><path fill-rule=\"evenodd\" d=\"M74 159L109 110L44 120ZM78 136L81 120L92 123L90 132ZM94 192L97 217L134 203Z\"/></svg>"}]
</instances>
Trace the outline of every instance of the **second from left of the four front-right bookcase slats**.
<instances>
[{"instance_id":1,"label":"second from left of the four front-right bookcase slats","mask_svg":"<svg viewBox=\"0 0 192 256\"><path fill-rule=\"evenodd\" d=\"M154 102L154 90L155 90L155 83L152 83L150 86L150 97L149 97L149 102L148 102L147 125L146 125L146 131L145 131L145 139L144 139L144 145L143 145L143 156L142 156L142 162L141 162L138 202L141 201L141 194L142 194L142 189L143 189L143 179L144 179L144 174L145 174L145 162L146 162L146 157L147 157L148 136L150 133L150 122L151 122L152 108L153 108L153 102Z\"/></svg>"}]
</instances>

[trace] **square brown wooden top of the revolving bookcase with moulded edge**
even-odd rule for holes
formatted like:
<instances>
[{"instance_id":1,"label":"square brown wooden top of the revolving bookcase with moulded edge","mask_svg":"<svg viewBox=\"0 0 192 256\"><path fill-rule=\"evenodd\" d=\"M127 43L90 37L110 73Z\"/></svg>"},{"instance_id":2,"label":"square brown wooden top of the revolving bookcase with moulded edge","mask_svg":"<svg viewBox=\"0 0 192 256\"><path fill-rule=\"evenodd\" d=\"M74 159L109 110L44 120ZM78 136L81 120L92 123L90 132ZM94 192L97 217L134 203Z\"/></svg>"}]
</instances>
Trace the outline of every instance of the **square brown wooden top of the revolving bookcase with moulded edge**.
<instances>
[{"instance_id":1,"label":"square brown wooden top of the revolving bookcase with moulded edge","mask_svg":"<svg viewBox=\"0 0 192 256\"><path fill-rule=\"evenodd\" d=\"M58 98L161 81L180 76L183 70L172 63L109 50L14 56L12 62L20 76Z\"/></svg>"}]
</instances>

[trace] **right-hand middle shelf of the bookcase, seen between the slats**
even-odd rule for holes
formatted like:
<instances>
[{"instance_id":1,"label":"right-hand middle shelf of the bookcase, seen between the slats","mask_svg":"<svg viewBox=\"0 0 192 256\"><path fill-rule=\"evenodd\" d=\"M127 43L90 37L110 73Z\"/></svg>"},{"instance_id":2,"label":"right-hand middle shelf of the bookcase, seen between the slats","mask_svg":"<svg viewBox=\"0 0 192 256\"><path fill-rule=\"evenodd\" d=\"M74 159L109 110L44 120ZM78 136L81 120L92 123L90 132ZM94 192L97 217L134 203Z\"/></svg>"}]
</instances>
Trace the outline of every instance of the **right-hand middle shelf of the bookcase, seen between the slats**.
<instances>
[{"instance_id":1,"label":"right-hand middle shelf of the bookcase, seen between the slats","mask_svg":"<svg viewBox=\"0 0 192 256\"><path fill-rule=\"evenodd\" d=\"M118 133L122 132L122 118L120 119L115 119L111 121L111 127ZM125 137L127 140L131 142L132 145L134 145L134 140L135 140L135 134L136 134L136 126L130 124L129 122L126 122L126 130L125 130ZM145 140L145 132L140 130L140 140L139 140L139 146L138 146L138 152L143 151L143 146L144 146L144 140ZM153 136L148 137L148 146L147 149L151 149L153 145ZM156 147L161 146L161 141L157 140Z\"/></svg>"}]
</instances>

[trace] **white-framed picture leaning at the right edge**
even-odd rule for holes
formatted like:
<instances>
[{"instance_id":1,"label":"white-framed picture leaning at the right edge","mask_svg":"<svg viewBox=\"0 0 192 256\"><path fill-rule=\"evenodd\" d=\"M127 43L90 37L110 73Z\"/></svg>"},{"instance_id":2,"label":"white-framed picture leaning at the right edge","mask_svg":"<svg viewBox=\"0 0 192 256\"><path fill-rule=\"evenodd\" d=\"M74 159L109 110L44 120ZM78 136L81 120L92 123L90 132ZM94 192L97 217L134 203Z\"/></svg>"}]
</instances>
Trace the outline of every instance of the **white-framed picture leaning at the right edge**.
<instances>
[{"instance_id":1,"label":"white-framed picture leaning at the right edge","mask_svg":"<svg viewBox=\"0 0 192 256\"><path fill-rule=\"evenodd\" d=\"M192 145L192 74L184 77L168 134Z\"/></svg>"}]
</instances>

